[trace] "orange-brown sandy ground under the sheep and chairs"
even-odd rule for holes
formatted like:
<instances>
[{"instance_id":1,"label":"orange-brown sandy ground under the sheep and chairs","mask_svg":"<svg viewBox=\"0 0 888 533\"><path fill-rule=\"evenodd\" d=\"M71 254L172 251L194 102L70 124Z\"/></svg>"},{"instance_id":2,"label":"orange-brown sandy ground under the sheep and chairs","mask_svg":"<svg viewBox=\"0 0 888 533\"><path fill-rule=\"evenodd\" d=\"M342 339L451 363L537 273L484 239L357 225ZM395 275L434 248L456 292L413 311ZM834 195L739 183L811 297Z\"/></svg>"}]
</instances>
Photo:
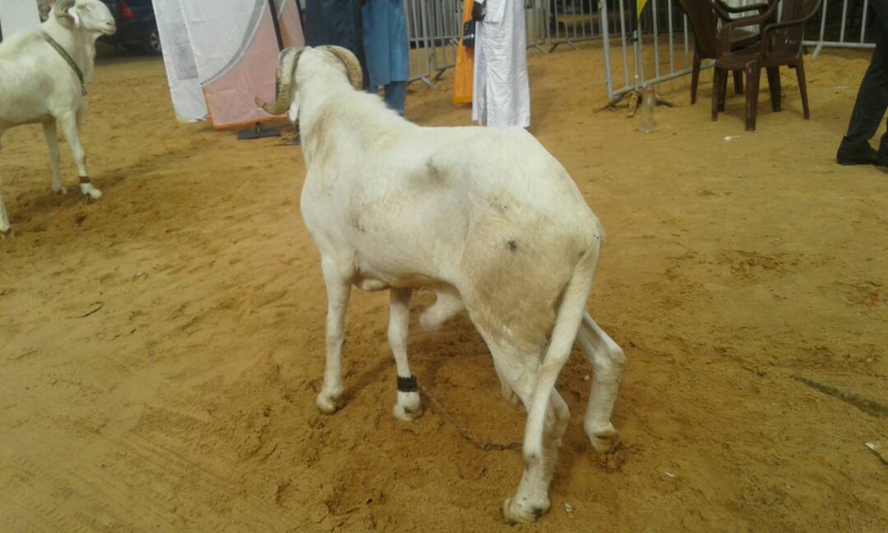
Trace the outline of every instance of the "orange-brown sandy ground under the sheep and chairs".
<instances>
[{"instance_id":1,"label":"orange-brown sandy ground under the sheep and chairs","mask_svg":"<svg viewBox=\"0 0 888 533\"><path fill-rule=\"evenodd\" d=\"M590 367L568 363L553 507L522 530L888 530L888 466L864 447L888 447L888 174L834 162L868 60L808 60L811 121L791 73L779 113L763 82L754 134L742 97L709 121L711 73L695 106L671 82L680 106L642 135L594 112L599 50L531 57L532 131L608 231L590 308L629 364L623 445L601 459ZM468 124L451 82L414 85L408 118ZM355 290L347 404L315 410L325 296L300 149L178 124L158 60L105 58L90 104L100 201L53 195L39 127L0 153L0 530L515 530L520 453L458 426L509 443L525 413L466 317L414 328L441 407L396 422L388 299ZM76 190L67 150L63 169Z\"/></svg>"}]
</instances>

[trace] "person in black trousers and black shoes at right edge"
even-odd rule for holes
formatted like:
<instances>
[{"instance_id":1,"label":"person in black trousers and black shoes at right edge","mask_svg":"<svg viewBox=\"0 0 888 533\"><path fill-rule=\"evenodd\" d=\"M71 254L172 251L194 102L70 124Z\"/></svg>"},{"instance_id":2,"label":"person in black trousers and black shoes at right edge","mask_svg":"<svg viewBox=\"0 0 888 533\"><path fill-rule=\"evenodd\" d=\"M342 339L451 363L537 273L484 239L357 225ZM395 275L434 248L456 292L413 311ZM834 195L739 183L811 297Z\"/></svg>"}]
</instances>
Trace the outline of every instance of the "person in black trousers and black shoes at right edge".
<instances>
[{"instance_id":1,"label":"person in black trousers and black shoes at right edge","mask_svg":"<svg viewBox=\"0 0 888 533\"><path fill-rule=\"evenodd\" d=\"M875 50L870 68L857 91L848 132L839 145L835 160L840 165L879 165L888 167L888 132L883 134L879 150L869 140L879 131L888 110L888 0L870 2L875 14Z\"/></svg>"}]
</instances>

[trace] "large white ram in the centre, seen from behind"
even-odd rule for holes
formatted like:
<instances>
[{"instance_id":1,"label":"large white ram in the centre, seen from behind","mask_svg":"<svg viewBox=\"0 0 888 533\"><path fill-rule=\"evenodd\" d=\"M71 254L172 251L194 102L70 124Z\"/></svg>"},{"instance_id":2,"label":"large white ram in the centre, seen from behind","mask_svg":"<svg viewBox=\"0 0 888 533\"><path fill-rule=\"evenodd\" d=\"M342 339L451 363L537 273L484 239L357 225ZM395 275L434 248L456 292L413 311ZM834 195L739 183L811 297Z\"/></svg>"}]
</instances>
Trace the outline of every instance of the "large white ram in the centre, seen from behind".
<instances>
[{"instance_id":1,"label":"large white ram in the centre, seen from behind","mask_svg":"<svg viewBox=\"0 0 888 533\"><path fill-rule=\"evenodd\" d=\"M350 82L351 81L351 82ZM327 289L326 368L317 406L343 392L345 308L352 285L391 291L389 343L398 373L395 415L420 414L407 361L411 292L438 293L421 317L436 327L465 309L493 355L509 400L528 410L524 476L503 512L529 522L548 488L569 411L555 380L574 344L594 365L584 427L596 451L610 422L624 356L586 313L602 229L565 169L522 129L421 128L361 92L348 51L281 53L273 114L298 119L308 175L305 225Z\"/></svg>"}]
</instances>

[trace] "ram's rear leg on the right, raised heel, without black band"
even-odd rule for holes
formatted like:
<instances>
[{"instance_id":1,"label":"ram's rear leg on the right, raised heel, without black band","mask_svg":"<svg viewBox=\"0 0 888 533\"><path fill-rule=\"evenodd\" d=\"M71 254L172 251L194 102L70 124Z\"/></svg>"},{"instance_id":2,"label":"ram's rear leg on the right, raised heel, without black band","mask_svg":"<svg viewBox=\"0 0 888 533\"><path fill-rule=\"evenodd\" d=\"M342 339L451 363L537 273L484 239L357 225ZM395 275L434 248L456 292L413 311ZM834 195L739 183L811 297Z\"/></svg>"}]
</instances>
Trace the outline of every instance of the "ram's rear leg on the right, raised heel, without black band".
<instances>
[{"instance_id":1,"label":"ram's rear leg on the right, raised heel, without black band","mask_svg":"<svg viewBox=\"0 0 888 533\"><path fill-rule=\"evenodd\" d=\"M588 313L583 316L583 324L576 335L576 340L594 368L584 430L594 450L606 453L611 451L618 441L617 431L611 423L611 413L620 388L620 376L623 373L626 356L623 354L623 349L595 324Z\"/></svg>"}]
</instances>

